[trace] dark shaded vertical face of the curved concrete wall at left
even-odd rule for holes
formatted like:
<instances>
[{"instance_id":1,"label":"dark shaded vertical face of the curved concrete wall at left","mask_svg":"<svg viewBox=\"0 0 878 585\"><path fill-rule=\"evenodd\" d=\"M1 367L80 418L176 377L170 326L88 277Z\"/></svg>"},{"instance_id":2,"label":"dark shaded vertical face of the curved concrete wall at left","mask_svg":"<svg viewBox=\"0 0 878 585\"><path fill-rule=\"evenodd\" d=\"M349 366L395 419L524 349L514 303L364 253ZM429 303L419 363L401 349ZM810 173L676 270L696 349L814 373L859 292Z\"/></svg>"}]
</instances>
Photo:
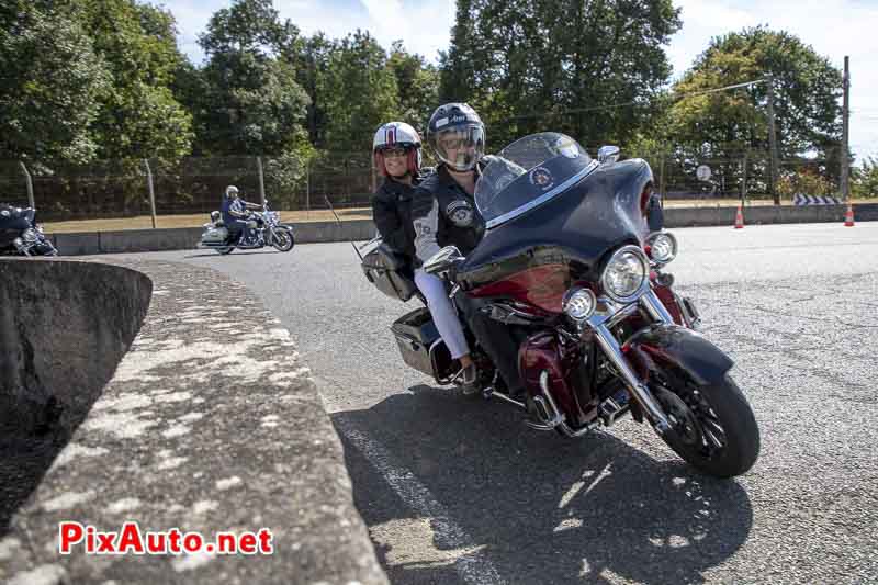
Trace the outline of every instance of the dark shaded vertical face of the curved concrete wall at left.
<instances>
[{"instance_id":1,"label":"dark shaded vertical face of the curved concrete wall at left","mask_svg":"<svg viewBox=\"0 0 878 585\"><path fill-rule=\"evenodd\" d=\"M75 428L140 328L151 290L122 267L0 262L0 428L34 432L47 416Z\"/></svg>"}]
</instances>

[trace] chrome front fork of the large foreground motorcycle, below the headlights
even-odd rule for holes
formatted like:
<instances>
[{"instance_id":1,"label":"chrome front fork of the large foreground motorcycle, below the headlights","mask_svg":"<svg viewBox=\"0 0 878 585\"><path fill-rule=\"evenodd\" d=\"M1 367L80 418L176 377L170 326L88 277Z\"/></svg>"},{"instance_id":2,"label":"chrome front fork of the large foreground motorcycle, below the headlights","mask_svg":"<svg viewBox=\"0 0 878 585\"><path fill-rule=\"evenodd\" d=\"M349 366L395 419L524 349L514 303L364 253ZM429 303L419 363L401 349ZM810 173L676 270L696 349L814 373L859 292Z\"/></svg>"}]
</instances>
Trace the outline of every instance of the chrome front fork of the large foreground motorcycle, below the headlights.
<instances>
[{"instance_id":1,"label":"chrome front fork of the large foreground motorcycle, below the headlights","mask_svg":"<svg viewBox=\"0 0 878 585\"><path fill-rule=\"evenodd\" d=\"M643 294L643 296L638 300L638 303L656 322L667 324L674 323L674 318L652 290ZM596 313L588 318L588 325L595 333L595 340L597 340L597 344L604 351L604 355L610 360L616 370L619 372L619 376L621 378L622 382L624 382L626 386L628 386L631 395L634 396L637 402L646 410L646 416L652 421L655 430L660 435L664 435L671 429L671 424L667 420L664 410L655 401L655 397L653 396L652 392L650 392L650 389L646 387L646 384L643 383L637 372L634 372L634 370L628 363L628 359L624 357L624 353L622 353L622 348L619 345L619 341L616 340L616 337L610 330L610 327L614 323L614 317L619 313L620 310L623 311L623 307L618 307L609 301L606 303L606 305L608 311Z\"/></svg>"}]
</instances>

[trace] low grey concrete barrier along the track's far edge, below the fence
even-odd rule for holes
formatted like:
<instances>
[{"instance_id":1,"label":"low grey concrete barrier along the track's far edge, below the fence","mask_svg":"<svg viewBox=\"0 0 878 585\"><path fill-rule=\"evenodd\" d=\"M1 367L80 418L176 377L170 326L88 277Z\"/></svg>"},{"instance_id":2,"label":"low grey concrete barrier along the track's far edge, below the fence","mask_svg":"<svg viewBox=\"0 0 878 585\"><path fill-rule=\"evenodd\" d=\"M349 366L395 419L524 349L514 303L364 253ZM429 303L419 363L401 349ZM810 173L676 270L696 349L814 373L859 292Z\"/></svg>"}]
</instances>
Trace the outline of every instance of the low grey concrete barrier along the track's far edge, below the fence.
<instances>
[{"instance_id":1,"label":"low grey concrete barrier along the track's far edge, below the fence","mask_svg":"<svg viewBox=\"0 0 878 585\"><path fill-rule=\"evenodd\" d=\"M795 224L844 222L845 205L759 205L744 207L744 224ZM736 207L668 207L665 210L666 227L708 227L734 225ZM878 203L854 206L857 222L878 221ZM312 222L291 224L296 244L328 241L362 241L375 235L371 220L344 222ZM184 250L195 247L201 237L200 227L173 229L125 229L120 232L91 232L77 234L49 234L63 256Z\"/></svg>"}]
</instances>

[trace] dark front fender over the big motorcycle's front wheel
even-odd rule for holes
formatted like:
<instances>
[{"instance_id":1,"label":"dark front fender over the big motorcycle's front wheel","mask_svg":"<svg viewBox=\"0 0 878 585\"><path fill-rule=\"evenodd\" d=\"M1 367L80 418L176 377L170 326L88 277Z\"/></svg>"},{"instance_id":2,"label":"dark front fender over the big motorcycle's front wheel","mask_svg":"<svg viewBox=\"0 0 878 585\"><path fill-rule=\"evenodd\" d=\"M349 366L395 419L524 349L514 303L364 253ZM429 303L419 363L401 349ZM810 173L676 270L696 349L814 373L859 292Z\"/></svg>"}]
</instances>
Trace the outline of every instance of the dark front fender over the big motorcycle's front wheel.
<instances>
[{"instance_id":1,"label":"dark front fender over the big motorcycle's front wheel","mask_svg":"<svg viewBox=\"0 0 878 585\"><path fill-rule=\"evenodd\" d=\"M683 370L697 384L716 384L734 362L699 333L664 323L635 333L622 346L622 352L642 373L654 364Z\"/></svg>"}]
</instances>

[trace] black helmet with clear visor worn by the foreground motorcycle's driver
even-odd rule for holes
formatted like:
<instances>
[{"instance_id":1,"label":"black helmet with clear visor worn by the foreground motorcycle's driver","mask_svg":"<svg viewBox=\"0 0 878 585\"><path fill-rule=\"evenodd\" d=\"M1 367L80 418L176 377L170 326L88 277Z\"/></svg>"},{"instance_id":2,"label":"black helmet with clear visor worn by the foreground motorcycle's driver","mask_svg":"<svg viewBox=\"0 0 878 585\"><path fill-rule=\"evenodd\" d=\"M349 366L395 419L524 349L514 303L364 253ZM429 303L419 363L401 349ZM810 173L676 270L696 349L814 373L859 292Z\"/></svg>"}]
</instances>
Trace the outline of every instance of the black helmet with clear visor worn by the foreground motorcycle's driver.
<instances>
[{"instance_id":1,"label":"black helmet with clear visor worn by the foreground motorcycle's driver","mask_svg":"<svg viewBox=\"0 0 878 585\"><path fill-rule=\"evenodd\" d=\"M447 103L430 116L427 142L439 160L452 169L471 170L485 154L485 125L465 103Z\"/></svg>"}]
</instances>

